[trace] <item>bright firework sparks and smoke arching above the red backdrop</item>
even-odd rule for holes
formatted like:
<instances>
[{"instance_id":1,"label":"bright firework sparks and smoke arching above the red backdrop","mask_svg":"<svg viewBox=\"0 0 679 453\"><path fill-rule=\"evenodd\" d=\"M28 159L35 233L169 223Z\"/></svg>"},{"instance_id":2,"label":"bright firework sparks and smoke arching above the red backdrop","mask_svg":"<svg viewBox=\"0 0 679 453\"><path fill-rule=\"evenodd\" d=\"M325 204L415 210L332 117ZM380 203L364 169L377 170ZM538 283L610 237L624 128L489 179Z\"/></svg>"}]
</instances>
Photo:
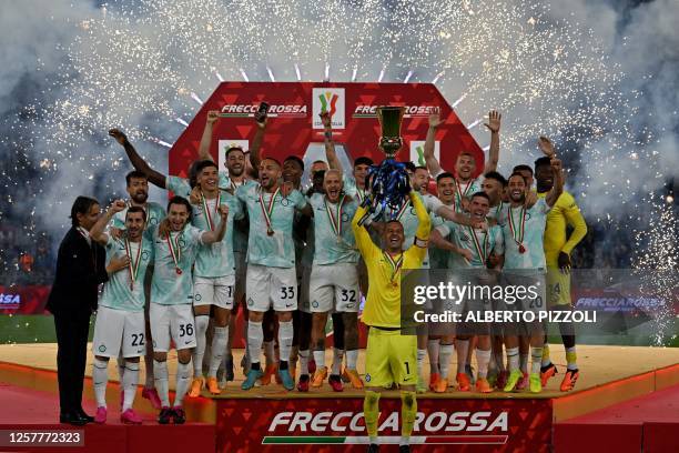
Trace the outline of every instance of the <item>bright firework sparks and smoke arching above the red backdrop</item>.
<instances>
[{"instance_id":1,"label":"bright firework sparks and smoke arching above the red backdrop","mask_svg":"<svg viewBox=\"0 0 679 453\"><path fill-rule=\"evenodd\" d=\"M538 157L538 135L553 137L575 169L569 187L592 219L608 222L612 213L636 223L639 207L666 204L650 198L670 167L653 149L657 132L630 121L640 94L625 89L590 30L555 19L539 2L241 0L226 8L217 0L144 0L103 7L73 27L63 77L41 93L50 101L27 105L16 123L31 137L17 148L45 180L29 197L47 205L61 205L73 181L91 180L107 194L121 190L129 165L107 148L112 127L145 141L140 151L164 162L184 119L217 81L331 74L432 81L483 148L480 119L501 111L504 172Z\"/></svg>"}]
</instances>

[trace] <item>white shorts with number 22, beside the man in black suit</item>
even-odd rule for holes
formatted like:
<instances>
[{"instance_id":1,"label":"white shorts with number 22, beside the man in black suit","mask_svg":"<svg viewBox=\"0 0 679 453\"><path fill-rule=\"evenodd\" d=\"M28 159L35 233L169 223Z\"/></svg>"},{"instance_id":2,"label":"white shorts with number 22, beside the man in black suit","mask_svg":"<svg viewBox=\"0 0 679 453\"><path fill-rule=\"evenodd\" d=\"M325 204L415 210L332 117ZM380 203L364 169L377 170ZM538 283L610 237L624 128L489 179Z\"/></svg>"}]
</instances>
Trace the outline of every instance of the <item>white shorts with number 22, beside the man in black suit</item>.
<instances>
[{"instance_id":1,"label":"white shorts with number 22, beside the man in black suit","mask_svg":"<svg viewBox=\"0 0 679 453\"><path fill-rule=\"evenodd\" d=\"M146 351L144 312L99 306L92 353L103 358L140 358Z\"/></svg>"}]
</instances>

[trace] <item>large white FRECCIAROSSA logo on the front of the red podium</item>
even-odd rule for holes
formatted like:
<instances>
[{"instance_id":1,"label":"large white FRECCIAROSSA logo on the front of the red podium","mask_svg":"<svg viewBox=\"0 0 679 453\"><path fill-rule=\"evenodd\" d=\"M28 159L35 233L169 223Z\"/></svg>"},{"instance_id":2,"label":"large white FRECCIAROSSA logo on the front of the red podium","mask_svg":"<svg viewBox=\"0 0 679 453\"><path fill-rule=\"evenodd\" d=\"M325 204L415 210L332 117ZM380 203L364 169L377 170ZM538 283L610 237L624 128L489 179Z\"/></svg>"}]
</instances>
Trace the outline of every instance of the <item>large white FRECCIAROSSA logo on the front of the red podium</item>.
<instances>
[{"instance_id":1,"label":"large white FRECCIAROSSA logo on the front of the red podium","mask_svg":"<svg viewBox=\"0 0 679 453\"><path fill-rule=\"evenodd\" d=\"M382 414L384 417L384 414ZM382 443L398 443L399 412L387 414L379 424ZM412 444L506 444L509 414L503 412L418 412ZM293 433L301 433L293 435ZM278 412L262 444L368 444L363 412Z\"/></svg>"}]
</instances>

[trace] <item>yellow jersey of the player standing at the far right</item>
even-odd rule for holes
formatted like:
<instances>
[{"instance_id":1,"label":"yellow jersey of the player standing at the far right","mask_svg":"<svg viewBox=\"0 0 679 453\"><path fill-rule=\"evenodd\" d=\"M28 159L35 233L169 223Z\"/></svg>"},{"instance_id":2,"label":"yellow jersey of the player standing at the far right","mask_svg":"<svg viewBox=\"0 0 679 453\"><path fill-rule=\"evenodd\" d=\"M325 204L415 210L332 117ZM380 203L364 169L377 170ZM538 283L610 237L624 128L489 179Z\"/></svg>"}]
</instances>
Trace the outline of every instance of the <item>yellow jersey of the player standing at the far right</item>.
<instances>
[{"instance_id":1,"label":"yellow jersey of the player standing at the far right","mask_svg":"<svg viewBox=\"0 0 679 453\"><path fill-rule=\"evenodd\" d=\"M537 195L545 198L547 192ZM567 225L571 225L574 229L570 238L566 236ZM564 191L547 213L547 224L545 226L545 261L547 268L557 268L559 252L570 254L578 242L585 238L585 234L587 234L587 224L580 209L572 195Z\"/></svg>"}]
</instances>

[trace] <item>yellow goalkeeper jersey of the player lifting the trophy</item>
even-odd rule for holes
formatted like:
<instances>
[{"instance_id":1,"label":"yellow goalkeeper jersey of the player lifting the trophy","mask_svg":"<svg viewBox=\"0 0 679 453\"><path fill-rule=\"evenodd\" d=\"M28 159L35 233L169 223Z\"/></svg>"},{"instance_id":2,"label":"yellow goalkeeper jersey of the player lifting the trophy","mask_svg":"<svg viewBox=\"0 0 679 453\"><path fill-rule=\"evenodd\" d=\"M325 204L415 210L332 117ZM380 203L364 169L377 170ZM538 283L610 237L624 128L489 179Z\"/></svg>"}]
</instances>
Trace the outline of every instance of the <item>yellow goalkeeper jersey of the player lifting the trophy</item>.
<instances>
[{"instance_id":1,"label":"yellow goalkeeper jersey of the player lifting the trophy","mask_svg":"<svg viewBox=\"0 0 679 453\"><path fill-rule=\"evenodd\" d=\"M375 245L366 229L358 225L358 221L366 212L365 208L358 208L352 221L356 245L363 255L368 273L368 293L362 318L367 325L401 328L401 273L404 269L420 269L427 254L429 215L422 198L415 192L411 192L411 202L419 221L415 233L416 243L395 256L389 256ZM398 265L399 260L403 260L401 265ZM394 272L395 268L396 272Z\"/></svg>"}]
</instances>

